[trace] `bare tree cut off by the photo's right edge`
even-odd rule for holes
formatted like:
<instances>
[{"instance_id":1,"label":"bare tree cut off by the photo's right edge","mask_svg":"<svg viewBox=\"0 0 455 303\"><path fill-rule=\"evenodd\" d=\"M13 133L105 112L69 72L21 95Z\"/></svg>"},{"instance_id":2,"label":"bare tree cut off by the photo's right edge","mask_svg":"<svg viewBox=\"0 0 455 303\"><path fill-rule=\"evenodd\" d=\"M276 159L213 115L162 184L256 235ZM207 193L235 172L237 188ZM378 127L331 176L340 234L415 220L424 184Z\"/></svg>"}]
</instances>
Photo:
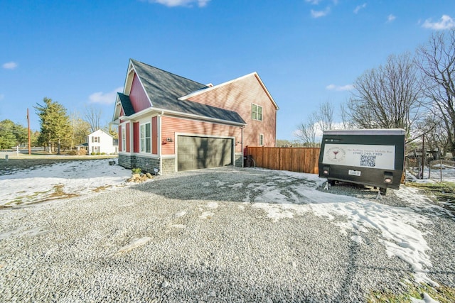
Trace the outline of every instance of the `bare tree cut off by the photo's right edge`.
<instances>
[{"instance_id":1,"label":"bare tree cut off by the photo's right edge","mask_svg":"<svg viewBox=\"0 0 455 303\"><path fill-rule=\"evenodd\" d=\"M417 49L417 56L417 66L427 79L424 87L427 97L426 106L442 121L449 151L453 153L455 152L455 28L451 28L446 33L444 31L434 33L426 45Z\"/></svg>"}]
</instances>

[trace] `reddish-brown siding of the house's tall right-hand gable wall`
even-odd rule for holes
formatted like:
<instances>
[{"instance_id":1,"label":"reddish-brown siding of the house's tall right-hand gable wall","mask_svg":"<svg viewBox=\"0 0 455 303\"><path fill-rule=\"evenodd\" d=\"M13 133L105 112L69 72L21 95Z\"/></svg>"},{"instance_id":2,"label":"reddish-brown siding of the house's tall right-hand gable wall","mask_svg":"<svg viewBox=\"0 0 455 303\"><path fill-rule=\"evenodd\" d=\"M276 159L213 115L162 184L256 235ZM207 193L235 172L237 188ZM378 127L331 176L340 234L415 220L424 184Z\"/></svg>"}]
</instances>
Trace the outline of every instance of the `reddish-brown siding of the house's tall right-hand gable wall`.
<instances>
[{"instance_id":1,"label":"reddish-brown siding of the house's tall right-hand gable wall","mask_svg":"<svg viewBox=\"0 0 455 303\"><path fill-rule=\"evenodd\" d=\"M264 146L276 145L277 109L256 75L250 75L189 100L237 111L247 123L244 145L259 145L259 134L264 135ZM251 119L252 104L262 106L262 121Z\"/></svg>"}]
</instances>

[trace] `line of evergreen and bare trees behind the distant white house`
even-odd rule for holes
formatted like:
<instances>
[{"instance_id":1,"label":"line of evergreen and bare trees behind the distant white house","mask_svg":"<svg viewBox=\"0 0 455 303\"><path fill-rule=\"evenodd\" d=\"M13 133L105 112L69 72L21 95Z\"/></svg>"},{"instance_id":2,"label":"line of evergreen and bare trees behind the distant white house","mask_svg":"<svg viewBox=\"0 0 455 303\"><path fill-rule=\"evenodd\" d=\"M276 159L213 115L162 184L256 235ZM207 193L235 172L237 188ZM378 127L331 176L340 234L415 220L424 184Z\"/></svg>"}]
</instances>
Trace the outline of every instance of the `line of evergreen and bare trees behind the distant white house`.
<instances>
[{"instance_id":1,"label":"line of evergreen and bare trees behind the distant white house","mask_svg":"<svg viewBox=\"0 0 455 303\"><path fill-rule=\"evenodd\" d=\"M93 107L85 109L84 118L79 114L67 114L65 106L45 97L43 103L33 106L38 115L40 131L31 132L31 145L43 147L49 153L60 153L60 149L71 150L75 145L87 141L87 136L100 128L114 138L117 131L110 124L101 127L101 111ZM10 149L28 144L28 128L11 120L0 121L0 149Z\"/></svg>"}]
</instances>

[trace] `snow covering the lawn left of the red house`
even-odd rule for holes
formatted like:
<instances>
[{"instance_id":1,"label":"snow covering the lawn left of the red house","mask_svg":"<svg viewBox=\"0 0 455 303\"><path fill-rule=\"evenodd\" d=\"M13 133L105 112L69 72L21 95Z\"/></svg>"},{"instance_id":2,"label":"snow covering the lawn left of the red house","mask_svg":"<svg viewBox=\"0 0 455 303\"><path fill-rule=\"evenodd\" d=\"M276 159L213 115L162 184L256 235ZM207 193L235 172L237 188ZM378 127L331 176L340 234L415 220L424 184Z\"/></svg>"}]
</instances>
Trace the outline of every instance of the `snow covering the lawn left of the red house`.
<instances>
[{"instance_id":1,"label":"snow covering the lawn left of the red house","mask_svg":"<svg viewBox=\"0 0 455 303\"><path fill-rule=\"evenodd\" d=\"M131 170L109 165L109 160L60 162L0 175L0 206L31 204L127 186Z\"/></svg>"}]
</instances>

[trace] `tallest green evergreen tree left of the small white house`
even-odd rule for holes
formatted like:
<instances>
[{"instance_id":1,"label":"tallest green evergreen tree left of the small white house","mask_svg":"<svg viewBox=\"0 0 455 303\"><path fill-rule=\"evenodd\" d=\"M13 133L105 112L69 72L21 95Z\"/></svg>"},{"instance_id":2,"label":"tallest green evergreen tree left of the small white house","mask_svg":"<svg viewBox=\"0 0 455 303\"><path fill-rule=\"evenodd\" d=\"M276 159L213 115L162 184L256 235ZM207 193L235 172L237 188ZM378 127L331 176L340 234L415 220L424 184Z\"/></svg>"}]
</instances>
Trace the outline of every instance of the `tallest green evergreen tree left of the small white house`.
<instances>
[{"instance_id":1,"label":"tallest green evergreen tree left of the small white house","mask_svg":"<svg viewBox=\"0 0 455 303\"><path fill-rule=\"evenodd\" d=\"M58 153L60 153L60 145L70 142L70 119L62 104L46 97L43 99L43 102L43 105L36 104L34 106L41 124L38 143L42 146L48 144L49 153L52 153L52 143L57 143Z\"/></svg>"}]
</instances>

